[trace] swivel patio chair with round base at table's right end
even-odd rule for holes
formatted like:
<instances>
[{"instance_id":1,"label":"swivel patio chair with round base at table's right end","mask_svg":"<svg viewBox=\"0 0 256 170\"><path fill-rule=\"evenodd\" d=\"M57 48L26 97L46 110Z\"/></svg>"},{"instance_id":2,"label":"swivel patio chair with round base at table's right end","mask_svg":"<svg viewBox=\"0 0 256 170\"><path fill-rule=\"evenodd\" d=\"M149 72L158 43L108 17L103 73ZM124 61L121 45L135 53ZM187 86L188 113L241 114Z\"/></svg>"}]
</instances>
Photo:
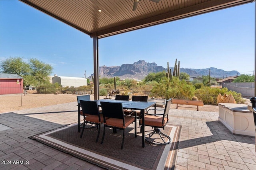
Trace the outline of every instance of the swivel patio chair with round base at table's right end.
<instances>
[{"instance_id":1,"label":"swivel patio chair with round base at table's right end","mask_svg":"<svg viewBox=\"0 0 256 170\"><path fill-rule=\"evenodd\" d=\"M171 142L171 138L162 133L159 128L164 129L164 127L167 125L169 119L168 114L171 106L171 100L166 100L166 105L164 109L149 109L144 117L144 124L145 126L151 126L154 128L153 132L150 132L145 135L145 140L153 145L166 145ZM157 111L164 111L163 113L149 113L150 110L157 110ZM139 118L140 125L142 125L142 119L141 116ZM142 129L140 129L140 132ZM153 138L154 135L154 138ZM147 137L148 136L148 137Z\"/></svg>"}]
</instances>

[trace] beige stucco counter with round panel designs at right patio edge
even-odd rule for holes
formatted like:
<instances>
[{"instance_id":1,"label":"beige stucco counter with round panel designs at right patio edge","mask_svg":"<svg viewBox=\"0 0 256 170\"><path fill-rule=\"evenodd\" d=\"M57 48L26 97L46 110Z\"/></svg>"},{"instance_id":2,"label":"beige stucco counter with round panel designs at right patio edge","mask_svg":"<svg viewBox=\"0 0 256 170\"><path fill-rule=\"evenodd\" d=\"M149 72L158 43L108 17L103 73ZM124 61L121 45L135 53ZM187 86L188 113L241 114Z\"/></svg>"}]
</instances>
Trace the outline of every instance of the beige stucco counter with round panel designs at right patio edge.
<instances>
[{"instance_id":1,"label":"beige stucco counter with round panel designs at right patio edge","mask_svg":"<svg viewBox=\"0 0 256 170\"><path fill-rule=\"evenodd\" d=\"M219 121L233 134L255 137L253 113L246 104L218 103Z\"/></svg>"}]
</instances>

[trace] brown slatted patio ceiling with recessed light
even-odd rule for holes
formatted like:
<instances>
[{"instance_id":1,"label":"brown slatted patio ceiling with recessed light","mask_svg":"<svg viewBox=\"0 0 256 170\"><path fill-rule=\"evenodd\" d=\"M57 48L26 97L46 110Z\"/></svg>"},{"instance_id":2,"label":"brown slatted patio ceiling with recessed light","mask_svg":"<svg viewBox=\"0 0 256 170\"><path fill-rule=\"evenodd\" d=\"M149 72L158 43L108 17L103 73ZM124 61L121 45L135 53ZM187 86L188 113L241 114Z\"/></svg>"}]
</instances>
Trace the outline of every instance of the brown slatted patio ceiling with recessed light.
<instances>
[{"instance_id":1,"label":"brown slatted patio ceiling with recessed light","mask_svg":"<svg viewBox=\"0 0 256 170\"><path fill-rule=\"evenodd\" d=\"M174 21L254 0L20 0L88 35L99 38ZM102 12L98 12L98 10Z\"/></svg>"}]
</instances>

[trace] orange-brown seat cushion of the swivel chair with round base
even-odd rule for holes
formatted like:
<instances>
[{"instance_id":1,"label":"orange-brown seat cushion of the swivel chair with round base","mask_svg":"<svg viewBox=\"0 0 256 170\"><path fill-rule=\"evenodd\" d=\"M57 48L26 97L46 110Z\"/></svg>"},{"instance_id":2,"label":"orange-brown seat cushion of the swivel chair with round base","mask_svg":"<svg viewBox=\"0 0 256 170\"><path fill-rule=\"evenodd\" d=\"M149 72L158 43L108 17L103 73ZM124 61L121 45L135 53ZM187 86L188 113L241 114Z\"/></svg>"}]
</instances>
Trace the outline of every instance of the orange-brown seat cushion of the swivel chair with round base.
<instances>
[{"instance_id":1,"label":"orange-brown seat cushion of the swivel chair with round base","mask_svg":"<svg viewBox=\"0 0 256 170\"><path fill-rule=\"evenodd\" d=\"M162 124L163 117L159 116L152 116L152 115L145 115L144 122L146 126L152 127L162 127L167 123L167 118L164 117L164 124ZM142 124L142 119L140 119L140 124Z\"/></svg>"}]
</instances>

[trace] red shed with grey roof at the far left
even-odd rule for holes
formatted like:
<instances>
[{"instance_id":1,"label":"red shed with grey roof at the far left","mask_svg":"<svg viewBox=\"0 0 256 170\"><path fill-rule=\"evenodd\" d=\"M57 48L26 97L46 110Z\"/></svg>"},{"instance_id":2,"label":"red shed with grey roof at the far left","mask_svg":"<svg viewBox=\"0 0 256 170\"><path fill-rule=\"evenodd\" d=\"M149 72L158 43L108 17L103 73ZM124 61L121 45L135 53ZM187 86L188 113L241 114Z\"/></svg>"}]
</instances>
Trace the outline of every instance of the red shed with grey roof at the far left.
<instances>
[{"instance_id":1,"label":"red shed with grey roof at the far left","mask_svg":"<svg viewBox=\"0 0 256 170\"><path fill-rule=\"evenodd\" d=\"M23 78L18 74L0 73L0 94L23 93Z\"/></svg>"}]
</instances>

